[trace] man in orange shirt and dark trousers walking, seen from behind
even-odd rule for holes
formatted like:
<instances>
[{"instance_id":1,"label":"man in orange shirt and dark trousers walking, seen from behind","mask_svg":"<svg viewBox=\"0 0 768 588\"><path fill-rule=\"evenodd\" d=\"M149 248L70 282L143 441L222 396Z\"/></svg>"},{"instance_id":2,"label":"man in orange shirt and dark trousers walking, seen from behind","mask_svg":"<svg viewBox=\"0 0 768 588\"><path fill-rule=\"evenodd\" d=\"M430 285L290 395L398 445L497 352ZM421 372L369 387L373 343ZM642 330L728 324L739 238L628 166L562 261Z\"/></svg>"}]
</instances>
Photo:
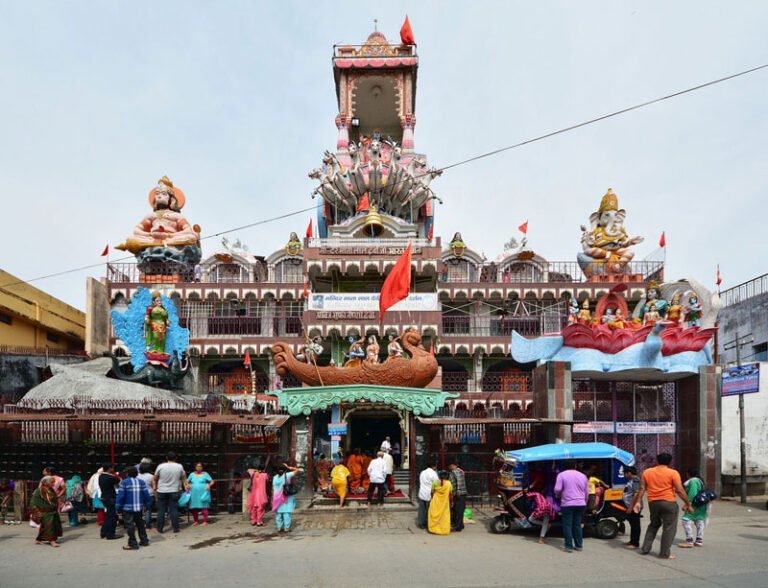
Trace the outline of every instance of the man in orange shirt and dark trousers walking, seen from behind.
<instances>
[{"instance_id":1,"label":"man in orange shirt and dark trousers walking, seen from behind","mask_svg":"<svg viewBox=\"0 0 768 588\"><path fill-rule=\"evenodd\" d=\"M685 502L685 510L693 512L688 494L683 488L680 480L680 474L669 467L672 463L672 456L669 453L660 453L656 457L658 465L648 468L643 472L640 483L640 491L632 502L632 510L640 512L643 495L648 493L648 510L651 512L651 524L645 532L645 540L640 548L640 553L648 554L653 547L653 540L656 539L656 533L663 527L661 532L661 547L659 548L659 557L661 559L675 559L670 554L672 543L675 542L677 533L677 514L678 506L675 501L677 494Z\"/></svg>"}]
</instances>

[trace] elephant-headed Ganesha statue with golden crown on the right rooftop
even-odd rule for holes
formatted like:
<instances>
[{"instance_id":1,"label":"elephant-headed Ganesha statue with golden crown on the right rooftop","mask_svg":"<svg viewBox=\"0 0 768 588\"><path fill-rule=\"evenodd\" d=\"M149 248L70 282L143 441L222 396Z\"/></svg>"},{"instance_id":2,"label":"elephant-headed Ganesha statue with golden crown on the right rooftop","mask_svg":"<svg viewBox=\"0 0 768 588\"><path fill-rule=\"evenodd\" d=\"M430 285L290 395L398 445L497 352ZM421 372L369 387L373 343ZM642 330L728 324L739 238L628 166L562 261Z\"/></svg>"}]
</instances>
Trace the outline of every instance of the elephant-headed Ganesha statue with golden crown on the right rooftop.
<instances>
[{"instance_id":1,"label":"elephant-headed Ganesha statue with golden crown on the right rooftop","mask_svg":"<svg viewBox=\"0 0 768 588\"><path fill-rule=\"evenodd\" d=\"M608 191L600 207L589 217L589 230L582 226L582 250L576 258L584 275L621 274L635 256L632 246L643 241L642 237L630 237L624 229L627 211L619 208L619 199L613 190Z\"/></svg>"}]
</instances>

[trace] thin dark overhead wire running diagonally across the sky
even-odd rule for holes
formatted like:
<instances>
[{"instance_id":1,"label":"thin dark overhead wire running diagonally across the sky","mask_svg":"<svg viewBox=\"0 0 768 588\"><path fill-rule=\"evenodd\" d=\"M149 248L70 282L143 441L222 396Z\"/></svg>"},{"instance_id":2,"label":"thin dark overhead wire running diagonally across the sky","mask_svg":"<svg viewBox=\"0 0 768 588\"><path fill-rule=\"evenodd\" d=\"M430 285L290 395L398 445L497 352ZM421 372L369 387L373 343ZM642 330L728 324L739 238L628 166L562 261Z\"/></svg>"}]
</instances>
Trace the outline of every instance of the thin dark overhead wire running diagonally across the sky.
<instances>
[{"instance_id":1,"label":"thin dark overhead wire running diagonally across the sky","mask_svg":"<svg viewBox=\"0 0 768 588\"><path fill-rule=\"evenodd\" d=\"M592 119L586 120L584 122L580 122L578 124L570 125L568 127L563 127L563 128L558 129L556 131L551 131L549 133L545 133L543 135L539 135L539 136L533 137L531 139L526 139L525 141L520 141L519 143L515 143L513 145L507 145L506 147L500 147L498 149L494 149L493 151L487 151L485 153L481 153L479 155L475 155L475 156L470 157L468 159L457 161L456 163L452 163L450 165L446 165L446 166L437 168L437 171L444 172L446 170L453 169L455 167L459 167L460 165L466 165L468 163L472 163L472 162L478 161L480 159L485 159L487 157L492 157L494 155L498 155L499 153L504 153L505 151L511 151L512 149L517 149L519 147L524 147L525 145L530 145L531 143L536 143L538 141L543 141L544 139L549 139L550 137L555 137L557 135L562 135L562 134L568 133L570 131L575 131L576 129L580 129L582 127L586 127L588 125L592 125L592 124L595 124L595 123L607 120L609 118L613 118L613 117L616 117L616 116L621 116L622 114L627 114L628 112L632 112L634 110L639 110L641 108L645 108L646 106L651 106L652 104L657 104L657 103L663 102L665 100L670 100L672 98L677 98L678 96L683 96L684 94L689 94L689 93L695 92L697 90L702 90L702 89L708 88L710 86L715 86L717 84L721 84L723 82L727 82L727 81L733 80L735 78L739 78L741 76L745 76L745 75L748 75L748 74L751 74L751 73L754 73L754 72L757 72L757 71L760 71L760 70L763 70L763 69L766 69L766 68L768 68L768 63L765 63L763 65L758 65L758 66L752 67L750 69L745 69L745 70L742 70L742 71L737 72L735 74L731 74L731 75L728 75L728 76L725 76L725 77L722 77L722 78L718 78L716 80L711 80L711 81L705 82L703 84L698 84L696 86L691 86L690 88L686 88L685 90L679 90L679 91L673 92L671 94L666 94L665 96L661 96L659 98L654 98L653 100L648 100L646 102L641 102L641 103L635 104L633 106L628 106L626 108L622 108L621 110L615 110L615 111L610 112L608 114L604 114L602 116L598 116L596 118L592 118ZM426 175L426 174L422 174L422 176L423 175ZM421 176L418 176L418 177L421 177ZM404 180L401 180L401 181L404 181ZM263 224L271 223L271 222L274 222L274 221L277 221L277 220L282 220L284 218L295 216L297 214L302 214L302 213L305 213L305 212L309 212L309 211L315 210L315 208L316 208L315 206L310 206L308 208L303 208L301 210L296 210L296 211L293 211L293 212L287 212L285 214L281 214L281 215L278 215L278 216L275 216L275 217L272 217L272 218L263 219L263 220L260 220L260 221L255 221L253 223L249 223L249 224L246 224L246 225L241 225L239 227L235 227L235 228L232 228L232 229L227 229L225 231L219 231L218 233L213 233L211 235L207 235L205 237L202 237L200 240L204 241L205 239L210 239L212 237L220 237L221 235L226 235L227 233L232 233L234 231L241 231L243 229L248 229L248 228L251 228L251 227L258 226L258 225L263 225ZM127 256L127 257L120 258L120 259L113 260L113 261L125 261L125 260L131 259L131 258L132 258L132 256ZM94 263L94 264L91 264L91 265L85 265L85 266L81 266L81 267L77 267L77 268L63 270L63 271L56 272L56 273L53 273L53 274L48 274L48 275L45 275L45 276L38 276L36 278L31 278L29 280L19 280L17 282L10 282L8 284L2 284L2 285L0 285L0 288L8 288L10 286L16 286L16 285L19 285L19 284L29 284L31 282L37 282L37 281L45 280L45 279L48 279L48 278L54 278L54 277L57 277L57 276L63 276L63 275L70 274L70 273L80 272L80 271L83 271L83 270L92 269L92 268L95 268L95 267L100 267L102 265L104 265L104 262Z\"/></svg>"}]
</instances>

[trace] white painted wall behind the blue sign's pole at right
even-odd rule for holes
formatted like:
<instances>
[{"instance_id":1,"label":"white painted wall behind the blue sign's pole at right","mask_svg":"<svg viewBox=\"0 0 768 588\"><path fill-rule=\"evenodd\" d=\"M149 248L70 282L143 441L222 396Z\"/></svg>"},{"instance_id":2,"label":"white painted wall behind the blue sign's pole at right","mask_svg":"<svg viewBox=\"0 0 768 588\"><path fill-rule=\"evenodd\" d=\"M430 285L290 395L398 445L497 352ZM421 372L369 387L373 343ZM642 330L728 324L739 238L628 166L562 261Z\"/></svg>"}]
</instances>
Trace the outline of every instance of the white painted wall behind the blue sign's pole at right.
<instances>
[{"instance_id":1,"label":"white painted wall behind the blue sign's pole at right","mask_svg":"<svg viewBox=\"0 0 768 588\"><path fill-rule=\"evenodd\" d=\"M739 475L739 399L723 398L722 473ZM768 474L768 362L760 362L760 391L744 395L747 475Z\"/></svg>"}]
</instances>

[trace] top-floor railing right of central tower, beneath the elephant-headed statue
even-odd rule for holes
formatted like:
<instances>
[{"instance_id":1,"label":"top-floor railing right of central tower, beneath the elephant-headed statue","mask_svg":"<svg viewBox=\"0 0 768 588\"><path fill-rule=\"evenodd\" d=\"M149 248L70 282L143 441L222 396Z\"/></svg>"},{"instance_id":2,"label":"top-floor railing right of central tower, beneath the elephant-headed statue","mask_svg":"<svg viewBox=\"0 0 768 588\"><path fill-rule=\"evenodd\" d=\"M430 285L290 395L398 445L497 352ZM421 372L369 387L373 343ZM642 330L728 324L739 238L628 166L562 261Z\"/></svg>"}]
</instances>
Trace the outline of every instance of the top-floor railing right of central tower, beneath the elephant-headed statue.
<instances>
[{"instance_id":1,"label":"top-floor railing right of central tower, beneath the elephant-headed statue","mask_svg":"<svg viewBox=\"0 0 768 588\"><path fill-rule=\"evenodd\" d=\"M520 261L509 266L510 269L502 270L495 264L485 265L480 269L480 277L476 272L468 270L466 275L460 275L457 271L444 272L440 276L440 282L452 283L581 283L611 281L614 278L609 275L593 275L587 280L581 267L575 261L547 261L543 263L533 261ZM664 277L663 261L631 261L627 264L624 274L629 281L648 281L651 279L659 282Z\"/></svg>"}]
</instances>

